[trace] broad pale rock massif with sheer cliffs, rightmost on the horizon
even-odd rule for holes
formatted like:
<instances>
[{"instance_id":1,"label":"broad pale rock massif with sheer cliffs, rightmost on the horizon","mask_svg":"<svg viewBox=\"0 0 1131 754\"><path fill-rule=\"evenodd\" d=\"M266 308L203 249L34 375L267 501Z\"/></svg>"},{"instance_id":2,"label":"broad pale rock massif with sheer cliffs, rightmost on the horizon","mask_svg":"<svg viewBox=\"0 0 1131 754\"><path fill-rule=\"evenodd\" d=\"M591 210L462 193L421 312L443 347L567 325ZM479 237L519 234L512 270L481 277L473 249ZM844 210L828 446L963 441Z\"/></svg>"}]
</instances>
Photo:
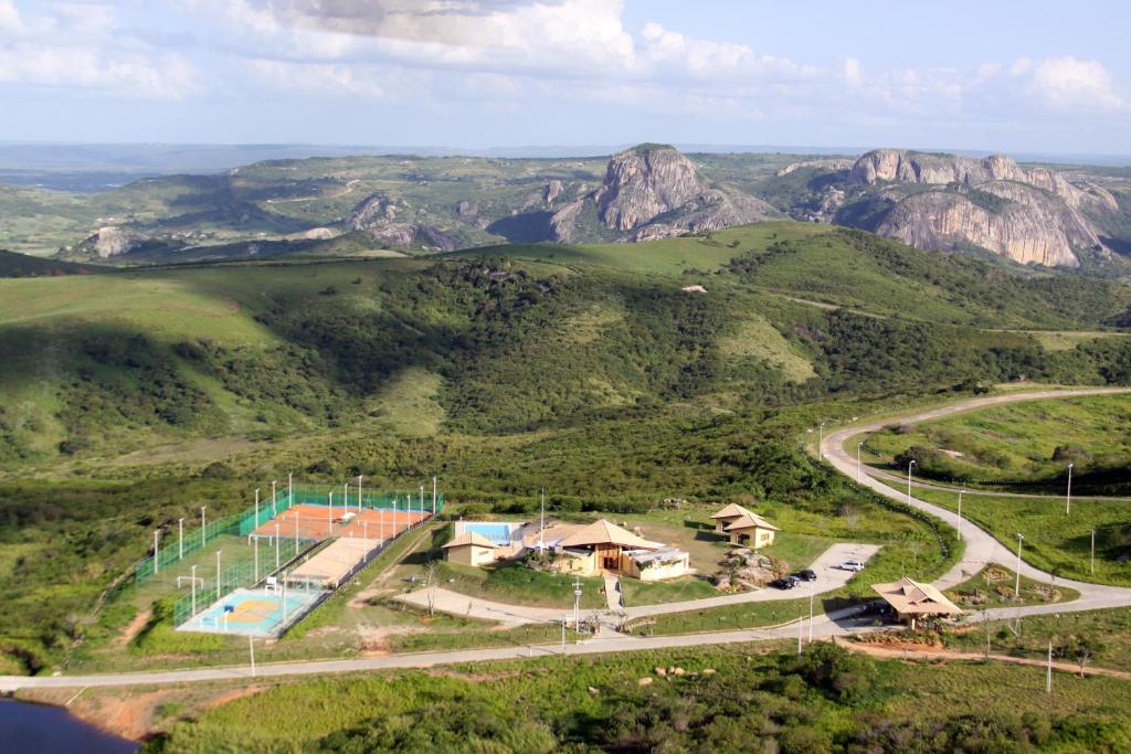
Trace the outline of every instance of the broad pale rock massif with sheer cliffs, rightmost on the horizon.
<instances>
[{"instance_id":1,"label":"broad pale rock massif with sheer cliffs, rightmost on the horizon","mask_svg":"<svg viewBox=\"0 0 1131 754\"><path fill-rule=\"evenodd\" d=\"M1047 168L1025 170L1000 155L878 149L856 161L851 180L896 184L883 189L893 207L875 227L880 235L921 249L973 244L1021 263L1078 267L1077 251L1103 246L1087 213L1117 208L1099 187ZM940 188L901 196L900 183Z\"/></svg>"}]
</instances>

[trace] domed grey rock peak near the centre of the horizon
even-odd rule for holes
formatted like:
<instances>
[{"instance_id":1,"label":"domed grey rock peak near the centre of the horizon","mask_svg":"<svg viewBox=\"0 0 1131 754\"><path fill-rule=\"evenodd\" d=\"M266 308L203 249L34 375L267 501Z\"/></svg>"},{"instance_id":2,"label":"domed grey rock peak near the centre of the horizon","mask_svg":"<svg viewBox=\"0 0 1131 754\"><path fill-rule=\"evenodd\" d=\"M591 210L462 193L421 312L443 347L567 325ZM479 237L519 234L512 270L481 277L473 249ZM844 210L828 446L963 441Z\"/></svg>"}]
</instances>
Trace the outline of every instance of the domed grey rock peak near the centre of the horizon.
<instances>
[{"instance_id":1,"label":"domed grey rock peak near the centre of the horizon","mask_svg":"<svg viewBox=\"0 0 1131 754\"><path fill-rule=\"evenodd\" d=\"M590 240L594 232L623 241L650 241L776 215L760 199L707 188L694 163L675 148L641 145L613 155L601 187L554 213L550 228L555 241L566 243ZM590 227L593 220L596 228Z\"/></svg>"}]
</instances>

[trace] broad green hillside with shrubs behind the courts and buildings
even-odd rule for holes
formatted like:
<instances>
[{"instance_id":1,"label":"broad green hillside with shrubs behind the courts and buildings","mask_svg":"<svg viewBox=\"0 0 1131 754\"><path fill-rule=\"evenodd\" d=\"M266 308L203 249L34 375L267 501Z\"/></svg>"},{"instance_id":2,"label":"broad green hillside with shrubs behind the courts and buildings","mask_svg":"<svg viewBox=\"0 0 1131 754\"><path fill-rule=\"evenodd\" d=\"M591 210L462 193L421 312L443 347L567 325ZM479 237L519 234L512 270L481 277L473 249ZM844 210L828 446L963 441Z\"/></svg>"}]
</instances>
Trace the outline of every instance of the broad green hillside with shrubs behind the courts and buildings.
<instances>
[{"instance_id":1,"label":"broad green hillside with shrubs behind the courts and buildings","mask_svg":"<svg viewBox=\"0 0 1131 754\"><path fill-rule=\"evenodd\" d=\"M1131 381L1131 339L1026 331L1099 331L1126 307L1112 283L1010 277L993 300L969 260L927 276L791 224L501 251L0 280L0 647L36 669L110 641L129 614L90 607L154 528L288 473L439 474L473 511L545 485L562 512L752 494L847 521L872 503L801 453L819 422L1022 375ZM886 557L938 544L892 531Z\"/></svg>"}]
</instances>

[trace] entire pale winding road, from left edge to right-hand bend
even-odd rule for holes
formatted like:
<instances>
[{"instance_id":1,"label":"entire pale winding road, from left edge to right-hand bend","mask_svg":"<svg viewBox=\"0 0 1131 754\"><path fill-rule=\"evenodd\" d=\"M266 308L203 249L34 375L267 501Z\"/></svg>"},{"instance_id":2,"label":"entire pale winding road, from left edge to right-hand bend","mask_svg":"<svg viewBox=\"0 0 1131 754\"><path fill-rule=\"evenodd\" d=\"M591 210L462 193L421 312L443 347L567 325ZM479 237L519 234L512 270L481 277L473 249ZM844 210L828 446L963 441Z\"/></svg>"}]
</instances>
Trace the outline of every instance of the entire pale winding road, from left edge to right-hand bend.
<instances>
[{"instance_id":1,"label":"entire pale winding road, from left edge to right-hand bend","mask_svg":"<svg viewBox=\"0 0 1131 754\"><path fill-rule=\"evenodd\" d=\"M853 424L849 427L837 430L824 436L820 445L820 452L824 461L834 469L848 476L856 477L856 459L851 457L844 449L845 443L853 436L875 432L892 422L917 423L936 419L952 414L970 411L1001 404L1045 400L1057 398L1077 398L1083 396L1110 395L1115 392L1131 392L1129 389L1104 389L1089 388L1078 390L1046 390L1038 392L1016 392L987 398L975 398L972 400L952 404L917 414L912 414L897 418L884 418L871 423ZM934 584L940 589L947 589L966 581L970 575L981 571L987 563L998 563L1008 567L1017 567L1017 554L1009 549L988 532L978 528L968 520L960 519L956 513L938 505L927 503L915 497L908 499L906 492L900 492L888 486L882 479L872 476L863 476L860 484L869 487L877 494L903 503L909 503L914 508L934 515L950 526L955 527L966 543L966 552L962 560L950 571L944 573ZM1037 581L1051 581L1052 575L1036 569L1028 563L1021 564L1022 575ZM1059 579L1057 583L1067 584L1080 592L1080 598L1071 603L1057 603L1053 605L1034 605L1027 607L1003 607L985 610L977 617L985 619L1013 618L1025 615L1038 615L1047 613L1068 613L1074 610L1091 610L1099 608L1131 606L1131 589L1122 587L1107 587L1103 584L1086 583L1082 581L1071 581ZM760 593L760 592L758 592ZM791 595L792 597L792 595ZM761 599L766 599L762 597ZM468 598L458 597L461 606L467 606ZM711 598L714 601L725 598ZM746 598L750 599L750 598ZM702 601L702 600L700 600ZM706 606L706 605L703 605ZM672 603L663 606L653 606L641 614L656 614L662 612L676 612L694 609L696 603ZM484 606L484 609L493 609ZM510 609L515 609L510 606ZM871 619L861 615L860 607L835 610L824 615L818 615L806 624L804 621L748 631L724 631L707 632L697 634L680 634L673 636L633 638L623 634L612 633L607 636L599 636L580 641L577 643L543 644L537 647L511 645L492 649L470 649L447 652L425 652L417 655L395 655L388 657L353 658L339 660L311 660L301 662L276 662L260 665L252 674L249 666L239 667L213 667L183 670L161 670L150 673L119 673L85 676L0 676L0 692L12 692L19 688L58 688L58 687L86 687L86 686L135 686L135 685L162 685L183 684L215 681L243 681L251 682L252 678L280 677L280 676L310 676L328 673L359 673L368 670L390 669L390 668L424 668L434 665L452 662L473 662L485 660L504 660L529 657L547 657L553 655L594 655L604 652L638 651L651 649L666 649L679 647L701 647L707 644L726 644L735 642L768 641L768 640L793 640L798 641L803 635L813 638L844 636L853 633L873 631ZM559 619L561 610L553 610L552 619ZM518 617L517 615L515 617ZM541 616L539 616L541 617ZM498 616L495 616L498 619Z\"/></svg>"}]
</instances>

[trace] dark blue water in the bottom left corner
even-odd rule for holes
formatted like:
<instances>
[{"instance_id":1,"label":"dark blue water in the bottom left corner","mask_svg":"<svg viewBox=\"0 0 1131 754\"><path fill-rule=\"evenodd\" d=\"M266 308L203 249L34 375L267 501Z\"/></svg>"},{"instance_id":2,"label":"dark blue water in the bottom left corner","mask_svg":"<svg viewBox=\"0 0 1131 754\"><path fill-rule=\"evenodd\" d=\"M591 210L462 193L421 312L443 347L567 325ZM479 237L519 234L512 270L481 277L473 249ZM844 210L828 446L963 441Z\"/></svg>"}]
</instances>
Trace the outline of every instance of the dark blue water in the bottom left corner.
<instances>
[{"instance_id":1,"label":"dark blue water in the bottom left corner","mask_svg":"<svg viewBox=\"0 0 1131 754\"><path fill-rule=\"evenodd\" d=\"M5 754L133 754L139 746L83 722L61 707L0 699Z\"/></svg>"}]
</instances>

